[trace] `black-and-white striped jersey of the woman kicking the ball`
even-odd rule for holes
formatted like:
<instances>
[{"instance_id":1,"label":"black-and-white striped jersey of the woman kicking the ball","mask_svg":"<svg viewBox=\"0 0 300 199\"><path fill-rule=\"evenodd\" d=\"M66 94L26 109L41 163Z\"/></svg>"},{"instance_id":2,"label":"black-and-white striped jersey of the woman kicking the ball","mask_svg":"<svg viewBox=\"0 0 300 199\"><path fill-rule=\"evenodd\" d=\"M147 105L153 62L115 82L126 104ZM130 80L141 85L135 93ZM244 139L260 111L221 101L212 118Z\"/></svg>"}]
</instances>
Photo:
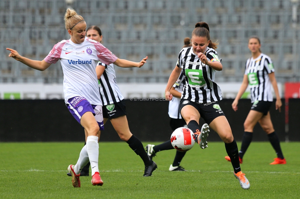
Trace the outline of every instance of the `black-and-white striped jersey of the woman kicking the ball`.
<instances>
[{"instance_id":1,"label":"black-and-white striped jersey of the woman kicking the ball","mask_svg":"<svg viewBox=\"0 0 300 199\"><path fill-rule=\"evenodd\" d=\"M207 47L205 55L212 62L220 62L217 52ZM196 103L208 103L222 100L221 89L215 80L215 69L203 64L193 52L192 47L183 48L178 56L177 67L185 75L185 87L181 99Z\"/></svg>"}]
</instances>

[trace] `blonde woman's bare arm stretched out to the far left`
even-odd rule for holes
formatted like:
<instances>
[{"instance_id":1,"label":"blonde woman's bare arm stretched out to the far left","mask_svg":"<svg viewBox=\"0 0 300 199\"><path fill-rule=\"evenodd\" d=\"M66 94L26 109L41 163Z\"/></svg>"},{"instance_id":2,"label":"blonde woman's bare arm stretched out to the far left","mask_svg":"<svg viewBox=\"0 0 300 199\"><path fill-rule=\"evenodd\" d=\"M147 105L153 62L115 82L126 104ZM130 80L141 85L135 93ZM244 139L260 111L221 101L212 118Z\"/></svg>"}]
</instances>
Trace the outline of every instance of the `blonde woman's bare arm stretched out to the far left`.
<instances>
[{"instance_id":1,"label":"blonde woman's bare arm stretched out to the far left","mask_svg":"<svg viewBox=\"0 0 300 199\"><path fill-rule=\"evenodd\" d=\"M12 57L12 58L14 58L17 61L22 62L23 64L26 64L30 68L43 71L43 70L47 69L51 65L51 64L45 62L45 60L37 61L37 60L28 59L26 57L22 57L14 49L6 48L6 50L10 51L10 54L8 55L9 57Z\"/></svg>"}]
</instances>

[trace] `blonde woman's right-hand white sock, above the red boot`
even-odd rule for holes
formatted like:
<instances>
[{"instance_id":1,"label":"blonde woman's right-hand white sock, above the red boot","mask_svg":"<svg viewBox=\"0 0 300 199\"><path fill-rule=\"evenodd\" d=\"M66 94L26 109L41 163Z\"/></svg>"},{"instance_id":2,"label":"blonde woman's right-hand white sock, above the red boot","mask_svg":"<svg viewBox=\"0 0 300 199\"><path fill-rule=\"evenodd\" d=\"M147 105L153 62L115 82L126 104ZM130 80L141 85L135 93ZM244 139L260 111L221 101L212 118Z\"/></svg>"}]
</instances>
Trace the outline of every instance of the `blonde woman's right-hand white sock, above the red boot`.
<instances>
[{"instance_id":1,"label":"blonde woman's right-hand white sock, above the red boot","mask_svg":"<svg viewBox=\"0 0 300 199\"><path fill-rule=\"evenodd\" d=\"M92 176L95 172L99 172L98 159L99 159L99 144L97 136L88 136L86 139L86 150L89 154L89 162L92 167Z\"/></svg>"}]
</instances>

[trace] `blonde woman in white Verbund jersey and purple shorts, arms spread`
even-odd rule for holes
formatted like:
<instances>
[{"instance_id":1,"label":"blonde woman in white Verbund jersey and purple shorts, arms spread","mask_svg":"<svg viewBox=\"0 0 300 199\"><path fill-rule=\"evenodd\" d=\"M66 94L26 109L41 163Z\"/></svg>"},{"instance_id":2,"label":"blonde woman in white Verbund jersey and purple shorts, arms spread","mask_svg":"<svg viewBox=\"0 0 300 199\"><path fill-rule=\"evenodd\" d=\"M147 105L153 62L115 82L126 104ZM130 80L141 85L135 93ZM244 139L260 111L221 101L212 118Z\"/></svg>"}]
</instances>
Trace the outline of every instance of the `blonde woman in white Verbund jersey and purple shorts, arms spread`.
<instances>
[{"instance_id":1,"label":"blonde woman in white Verbund jersey and purple shorts, arms spread","mask_svg":"<svg viewBox=\"0 0 300 199\"><path fill-rule=\"evenodd\" d=\"M67 9L65 13L65 28L71 39L57 43L42 61L31 60L13 49L6 49L10 51L10 57L41 71L60 60L64 73L65 103L73 117L84 127L86 136L86 145L76 165L68 167L72 174L72 185L80 187L80 171L90 161L91 182L94 186L102 186L98 168L98 139L100 130L103 130L103 115L95 66L101 61L120 67L141 67L147 57L140 62L117 58L102 44L85 37L86 23L73 9Z\"/></svg>"}]
</instances>

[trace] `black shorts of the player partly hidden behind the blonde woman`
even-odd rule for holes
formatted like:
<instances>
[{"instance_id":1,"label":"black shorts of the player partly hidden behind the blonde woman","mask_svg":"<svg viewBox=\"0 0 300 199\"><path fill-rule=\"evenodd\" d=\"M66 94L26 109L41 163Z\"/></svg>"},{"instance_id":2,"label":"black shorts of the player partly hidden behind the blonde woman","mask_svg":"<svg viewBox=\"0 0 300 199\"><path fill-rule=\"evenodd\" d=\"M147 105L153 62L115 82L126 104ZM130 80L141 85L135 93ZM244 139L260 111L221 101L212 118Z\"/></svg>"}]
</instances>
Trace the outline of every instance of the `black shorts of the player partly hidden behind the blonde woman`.
<instances>
[{"instance_id":1,"label":"black shorts of the player partly hidden behind the blonde woman","mask_svg":"<svg viewBox=\"0 0 300 199\"><path fill-rule=\"evenodd\" d=\"M121 100L120 102L103 106L102 110L103 118L113 119L126 115L125 100Z\"/></svg>"}]
</instances>

